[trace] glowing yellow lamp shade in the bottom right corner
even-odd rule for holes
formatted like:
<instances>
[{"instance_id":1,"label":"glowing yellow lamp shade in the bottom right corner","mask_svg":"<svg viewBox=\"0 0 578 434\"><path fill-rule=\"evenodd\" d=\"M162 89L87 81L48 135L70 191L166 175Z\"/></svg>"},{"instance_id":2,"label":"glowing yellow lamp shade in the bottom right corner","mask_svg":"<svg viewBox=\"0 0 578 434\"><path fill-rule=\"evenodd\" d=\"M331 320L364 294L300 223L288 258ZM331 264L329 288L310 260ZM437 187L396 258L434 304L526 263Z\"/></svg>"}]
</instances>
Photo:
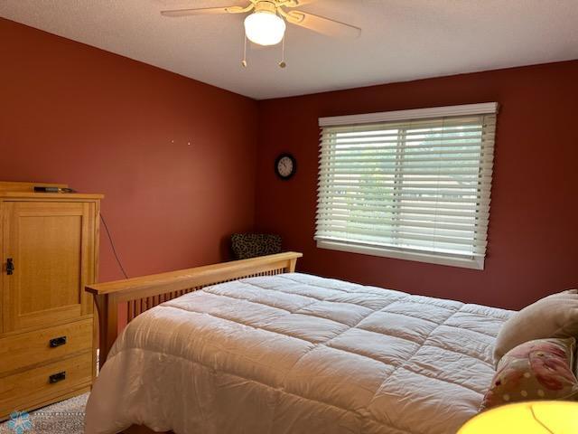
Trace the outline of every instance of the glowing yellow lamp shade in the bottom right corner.
<instances>
[{"instance_id":1,"label":"glowing yellow lamp shade in the bottom right corner","mask_svg":"<svg viewBox=\"0 0 578 434\"><path fill-rule=\"evenodd\" d=\"M484 411L458 434L578 434L578 402L529 401Z\"/></svg>"}]
</instances>

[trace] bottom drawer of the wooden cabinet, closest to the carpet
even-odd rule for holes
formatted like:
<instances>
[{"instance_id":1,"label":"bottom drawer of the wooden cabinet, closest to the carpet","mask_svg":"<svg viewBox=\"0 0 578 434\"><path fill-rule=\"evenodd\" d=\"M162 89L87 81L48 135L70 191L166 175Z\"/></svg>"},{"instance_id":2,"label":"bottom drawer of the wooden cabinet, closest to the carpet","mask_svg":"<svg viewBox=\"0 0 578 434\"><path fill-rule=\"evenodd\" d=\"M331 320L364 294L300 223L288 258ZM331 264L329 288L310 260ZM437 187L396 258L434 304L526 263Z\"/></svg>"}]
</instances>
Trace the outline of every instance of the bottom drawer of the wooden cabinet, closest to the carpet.
<instances>
[{"instance_id":1,"label":"bottom drawer of the wooden cabinet, closest to the carpet","mask_svg":"<svg viewBox=\"0 0 578 434\"><path fill-rule=\"evenodd\" d=\"M0 378L0 415L23 410L88 385L92 352Z\"/></svg>"}]
</instances>

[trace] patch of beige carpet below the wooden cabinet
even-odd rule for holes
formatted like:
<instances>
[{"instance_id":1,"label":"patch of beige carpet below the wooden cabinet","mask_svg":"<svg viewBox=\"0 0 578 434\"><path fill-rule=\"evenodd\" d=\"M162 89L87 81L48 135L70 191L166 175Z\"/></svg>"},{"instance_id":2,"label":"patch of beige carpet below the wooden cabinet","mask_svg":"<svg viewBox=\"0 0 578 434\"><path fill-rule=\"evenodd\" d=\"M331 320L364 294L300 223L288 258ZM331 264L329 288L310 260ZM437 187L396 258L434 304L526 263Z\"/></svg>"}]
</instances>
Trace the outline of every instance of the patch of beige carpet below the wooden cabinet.
<instances>
[{"instance_id":1,"label":"patch of beige carpet below the wooden cabinet","mask_svg":"<svg viewBox=\"0 0 578 434\"><path fill-rule=\"evenodd\" d=\"M82 434L89 393L31 411L0 424L0 434ZM29 422L29 423L27 423ZM12 426L11 426L12 425ZM14 426L15 425L15 426Z\"/></svg>"}]
</instances>

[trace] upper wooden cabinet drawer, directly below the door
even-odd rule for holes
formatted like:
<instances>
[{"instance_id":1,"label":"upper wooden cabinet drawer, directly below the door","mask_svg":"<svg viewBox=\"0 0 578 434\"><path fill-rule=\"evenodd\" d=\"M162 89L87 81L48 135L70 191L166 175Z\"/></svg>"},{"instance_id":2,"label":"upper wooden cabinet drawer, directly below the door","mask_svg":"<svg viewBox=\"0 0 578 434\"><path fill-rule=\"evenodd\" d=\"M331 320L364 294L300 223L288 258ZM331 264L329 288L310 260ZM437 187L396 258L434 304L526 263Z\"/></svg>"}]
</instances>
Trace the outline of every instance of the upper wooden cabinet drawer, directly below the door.
<instances>
[{"instance_id":1,"label":"upper wooden cabinet drawer, directly below the door","mask_svg":"<svg viewBox=\"0 0 578 434\"><path fill-rule=\"evenodd\" d=\"M0 377L92 348L92 319L0 339Z\"/></svg>"}]
</instances>

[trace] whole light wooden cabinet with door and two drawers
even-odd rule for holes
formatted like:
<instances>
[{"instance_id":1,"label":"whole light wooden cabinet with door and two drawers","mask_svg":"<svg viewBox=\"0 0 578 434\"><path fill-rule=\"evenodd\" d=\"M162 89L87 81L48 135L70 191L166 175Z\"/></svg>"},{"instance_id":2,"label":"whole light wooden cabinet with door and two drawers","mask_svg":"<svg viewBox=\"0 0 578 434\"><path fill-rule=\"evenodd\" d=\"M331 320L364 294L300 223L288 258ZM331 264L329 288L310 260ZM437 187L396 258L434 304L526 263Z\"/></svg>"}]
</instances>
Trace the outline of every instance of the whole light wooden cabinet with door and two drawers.
<instances>
[{"instance_id":1,"label":"whole light wooden cabinet with door and two drawers","mask_svg":"<svg viewBox=\"0 0 578 434\"><path fill-rule=\"evenodd\" d=\"M89 391L100 194L0 182L0 420Z\"/></svg>"}]
</instances>

